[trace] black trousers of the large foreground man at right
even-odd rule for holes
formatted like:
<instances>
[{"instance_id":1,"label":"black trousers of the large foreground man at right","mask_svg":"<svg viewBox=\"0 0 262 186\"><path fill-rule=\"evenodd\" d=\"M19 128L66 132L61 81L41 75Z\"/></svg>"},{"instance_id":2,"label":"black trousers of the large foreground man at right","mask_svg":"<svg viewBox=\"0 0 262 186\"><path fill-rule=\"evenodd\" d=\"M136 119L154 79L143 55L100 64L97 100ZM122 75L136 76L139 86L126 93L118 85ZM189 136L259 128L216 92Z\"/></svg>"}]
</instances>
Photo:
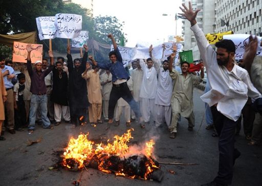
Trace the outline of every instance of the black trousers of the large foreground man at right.
<instances>
[{"instance_id":1,"label":"black trousers of the large foreground man at right","mask_svg":"<svg viewBox=\"0 0 262 186\"><path fill-rule=\"evenodd\" d=\"M236 149L235 128L238 121L233 121L217 111L215 106L211 107L213 123L219 135L219 172L214 181L220 184L231 184L233 178L233 160Z\"/></svg>"}]
</instances>

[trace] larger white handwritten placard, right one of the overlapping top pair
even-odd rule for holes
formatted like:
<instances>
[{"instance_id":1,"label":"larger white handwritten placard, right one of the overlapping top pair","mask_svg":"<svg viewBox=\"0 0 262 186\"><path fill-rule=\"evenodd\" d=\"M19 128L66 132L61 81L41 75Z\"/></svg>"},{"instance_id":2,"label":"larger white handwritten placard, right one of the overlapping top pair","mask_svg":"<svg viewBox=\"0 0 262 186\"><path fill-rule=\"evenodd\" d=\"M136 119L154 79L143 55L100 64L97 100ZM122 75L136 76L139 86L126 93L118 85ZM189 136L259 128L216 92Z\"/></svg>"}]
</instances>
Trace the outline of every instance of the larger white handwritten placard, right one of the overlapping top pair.
<instances>
[{"instance_id":1,"label":"larger white handwritten placard, right one of the overlapping top pair","mask_svg":"<svg viewBox=\"0 0 262 186\"><path fill-rule=\"evenodd\" d=\"M57 28L56 37L76 38L82 30L82 16L77 14L56 14L55 25Z\"/></svg>"}]
</instances>

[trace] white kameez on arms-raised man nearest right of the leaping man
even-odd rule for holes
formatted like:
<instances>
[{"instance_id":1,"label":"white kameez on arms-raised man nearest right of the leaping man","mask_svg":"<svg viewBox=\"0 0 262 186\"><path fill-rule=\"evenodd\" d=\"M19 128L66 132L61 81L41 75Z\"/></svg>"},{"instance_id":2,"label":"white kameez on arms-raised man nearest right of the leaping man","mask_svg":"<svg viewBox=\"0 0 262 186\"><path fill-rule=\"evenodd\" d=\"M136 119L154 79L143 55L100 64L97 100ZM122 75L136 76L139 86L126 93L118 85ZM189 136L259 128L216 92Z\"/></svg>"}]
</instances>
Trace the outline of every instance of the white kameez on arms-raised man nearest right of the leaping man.
<instances>
[{"instance_id":1,"label":"white kameez on arms-raised man nearest right of the leaping man","mask_svg":"<svg viewBox=\"0 0 262 186\"><path fill-rule=\"evenodd\" d=\"M145 62L140 59L139 64L144 72L140 89L140 98L155 99L157 92L157 71L159 63L154 63L154 67L148 68Z\"/></svg>"}]
</instances>

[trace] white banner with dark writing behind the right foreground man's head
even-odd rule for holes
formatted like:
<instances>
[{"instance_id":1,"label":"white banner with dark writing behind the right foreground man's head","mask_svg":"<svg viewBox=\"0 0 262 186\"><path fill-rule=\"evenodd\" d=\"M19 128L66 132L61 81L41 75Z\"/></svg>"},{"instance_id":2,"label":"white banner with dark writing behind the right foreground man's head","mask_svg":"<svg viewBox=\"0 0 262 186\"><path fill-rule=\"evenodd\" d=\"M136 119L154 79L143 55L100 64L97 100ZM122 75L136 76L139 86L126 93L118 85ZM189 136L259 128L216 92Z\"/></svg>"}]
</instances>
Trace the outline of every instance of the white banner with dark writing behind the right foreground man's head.
<instances>
[{"instance_id":1,"label":"white banner with dark writing behind the right foreground man's head","mask_svg":"<svg viewBox=\"0 0 262 186\"><path fill-rule=\"evenodd\" d=\"M249 34L232 34L232 35L224 35L223 39L231 39L235 44L235 59L243 59L243 55L245 53L245 42L249 42ZM254 36L253 36L254 37ZM261 37L257 37L258 40L258 48L256 51L257 56L262 56L262 48L260 47Z\"/></svg>"}]
</instances>

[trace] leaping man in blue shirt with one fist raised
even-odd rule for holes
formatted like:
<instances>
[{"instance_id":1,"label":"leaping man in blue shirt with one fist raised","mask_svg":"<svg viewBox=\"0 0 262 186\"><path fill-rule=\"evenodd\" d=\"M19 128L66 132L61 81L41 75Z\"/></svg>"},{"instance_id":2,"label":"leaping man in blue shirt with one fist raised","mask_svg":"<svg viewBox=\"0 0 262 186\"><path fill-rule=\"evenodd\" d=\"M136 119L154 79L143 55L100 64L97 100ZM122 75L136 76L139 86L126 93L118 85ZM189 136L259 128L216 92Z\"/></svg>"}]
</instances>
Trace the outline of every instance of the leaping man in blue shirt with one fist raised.
<instances>
[{"instance_id":1,"label":"leaping man in blue shirt with one fist raised","mask_svg":"<svg viewBox=\"0 0 262 186\"><path fill-rule=\"evenodd\" d=\"M127 86L126 82L129 79L129 75L123 66L123 59L117 48L117 43L115 41L115 38L113 37L112 34L108 34L107 37L112 40L114 46L114 51L111 51L109 53L109 58L111 60L111 63L96 62L92 57L90 57L89 59L93 62L95 66L98 66L105 70L109 70L112 74L113 87L110 92L109 106L108 106L108 119L109 119L108 126L107 126L108 129L113 123L114 110L119 98L123 98L130 105L130 107L133 109L133 111L136 114L136 118L140 118L141 113L139 111L138 104L135 102Z\"/></svg>"}]
</instances>

